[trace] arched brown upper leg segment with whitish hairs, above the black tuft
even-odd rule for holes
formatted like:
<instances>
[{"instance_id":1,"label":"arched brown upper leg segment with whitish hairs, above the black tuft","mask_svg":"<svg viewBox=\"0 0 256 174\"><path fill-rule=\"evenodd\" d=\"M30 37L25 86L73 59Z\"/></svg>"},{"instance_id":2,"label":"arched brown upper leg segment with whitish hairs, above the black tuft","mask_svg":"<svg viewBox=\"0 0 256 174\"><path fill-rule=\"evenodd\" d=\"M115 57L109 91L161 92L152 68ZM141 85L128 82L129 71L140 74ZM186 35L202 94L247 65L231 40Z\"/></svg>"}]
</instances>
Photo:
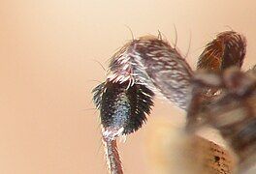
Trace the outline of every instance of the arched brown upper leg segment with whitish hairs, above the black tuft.
<instances>
[{"instance_id":1,"label":"arched brown upper leg segment with whitish hairs, above the black tuft","mask_svg":"<svg viewBox=\"0 0 256 174\"><path fill-rule=\"evenodd\" d=\"M190 101L193 72L176 48L157 37L142 37L126 43L112 57L108 79L118 82L129 78L144 84L180 108Z\"/></svg>"}]
</instances>

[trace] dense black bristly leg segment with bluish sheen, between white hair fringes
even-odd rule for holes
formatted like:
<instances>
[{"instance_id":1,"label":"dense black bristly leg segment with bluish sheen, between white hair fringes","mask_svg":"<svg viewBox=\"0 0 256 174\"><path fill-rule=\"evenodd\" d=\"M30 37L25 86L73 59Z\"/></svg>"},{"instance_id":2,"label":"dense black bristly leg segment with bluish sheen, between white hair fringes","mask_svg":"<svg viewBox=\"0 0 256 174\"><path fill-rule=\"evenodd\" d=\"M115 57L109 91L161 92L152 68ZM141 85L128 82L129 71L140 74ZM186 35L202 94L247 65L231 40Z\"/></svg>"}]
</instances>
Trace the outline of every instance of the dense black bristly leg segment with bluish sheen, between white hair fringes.
<instances>
[{"instance_id":1,"label":"dense black bristly leg segment with bluish sheen, between white hair fringes","mask_svg":"<svg viewBox=\"0 0 256 174\"><path fill-rule=\"evenodd\" d=\"M122 134L139 130L153 105L153 92L144 85L107 81L94 90L93 100L101 112L101 124L110 133L123 129Z\"/></svg>"}]
</instances>

